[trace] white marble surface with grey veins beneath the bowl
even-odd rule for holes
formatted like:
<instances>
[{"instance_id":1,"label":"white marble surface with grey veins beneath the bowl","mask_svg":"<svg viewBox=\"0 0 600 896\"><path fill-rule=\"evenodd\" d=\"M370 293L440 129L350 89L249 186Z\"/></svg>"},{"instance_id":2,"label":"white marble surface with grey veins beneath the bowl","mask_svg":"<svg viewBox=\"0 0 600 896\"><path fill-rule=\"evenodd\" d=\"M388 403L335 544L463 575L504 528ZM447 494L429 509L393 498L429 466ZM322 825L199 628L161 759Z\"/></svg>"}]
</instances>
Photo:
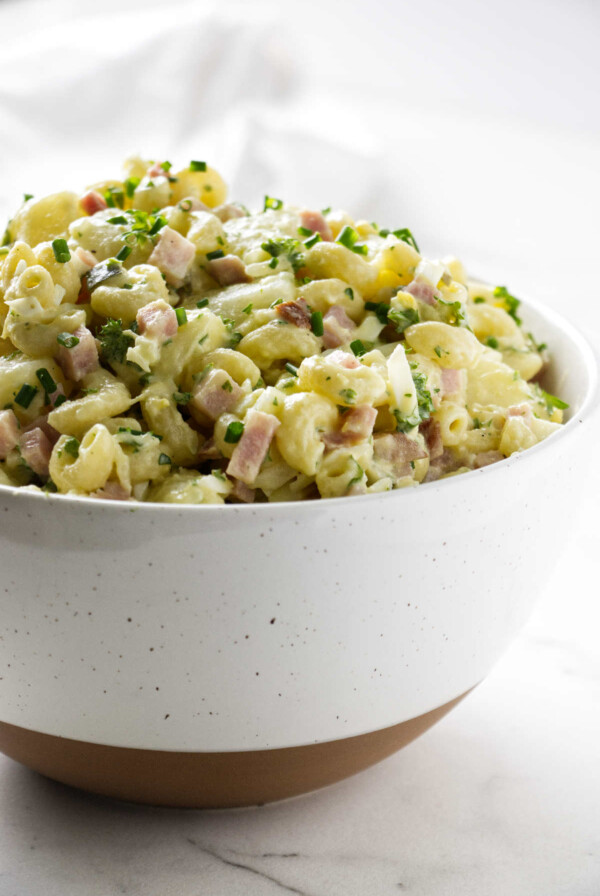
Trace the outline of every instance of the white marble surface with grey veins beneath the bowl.
<instances>
[{"instance_id":1,"label":"white marble surface with grey veins beneath the bowl","mask_svg":"<svg viewBox=\"0 0 600 896\"><path fill-rule=\"evenodd\" d=\"M404 751L327 790L199 812L0 758L0 896L598 896L597 479L534 618Z\"/></svg>"}]
</instances>

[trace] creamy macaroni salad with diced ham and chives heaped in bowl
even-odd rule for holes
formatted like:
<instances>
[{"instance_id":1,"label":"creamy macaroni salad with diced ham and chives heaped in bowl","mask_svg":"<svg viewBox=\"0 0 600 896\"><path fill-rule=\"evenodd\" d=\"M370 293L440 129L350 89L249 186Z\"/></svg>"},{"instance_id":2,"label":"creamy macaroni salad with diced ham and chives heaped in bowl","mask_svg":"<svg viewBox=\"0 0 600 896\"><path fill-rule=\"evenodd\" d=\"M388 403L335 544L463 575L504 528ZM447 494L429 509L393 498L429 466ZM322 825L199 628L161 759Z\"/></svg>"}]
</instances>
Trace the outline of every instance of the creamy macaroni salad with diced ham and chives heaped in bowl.
<instances>
[{"instance_id":1,"label":"creamy macaroni salad with diced ham and chives heaped in bowl","mask_svg":"<svg viewBox=\"0 0 600 896\"><path fill-rule=\"evenodd\" d=\"M503 286L410 230L133 158L25 196L0 249L0 484L221 504L359 495L502 460L567 405Z\"/></svg>"}]
</instances>

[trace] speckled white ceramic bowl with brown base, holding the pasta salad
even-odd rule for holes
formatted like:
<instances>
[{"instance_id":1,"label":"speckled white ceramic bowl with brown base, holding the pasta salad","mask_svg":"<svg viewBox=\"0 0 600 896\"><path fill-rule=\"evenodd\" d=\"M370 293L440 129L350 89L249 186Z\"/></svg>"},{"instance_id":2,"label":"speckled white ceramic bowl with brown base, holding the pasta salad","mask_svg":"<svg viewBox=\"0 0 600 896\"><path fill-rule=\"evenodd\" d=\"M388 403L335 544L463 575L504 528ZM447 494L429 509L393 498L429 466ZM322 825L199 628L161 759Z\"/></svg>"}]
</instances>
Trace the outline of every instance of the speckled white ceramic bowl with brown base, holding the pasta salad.
<instances>
[{"instance_id":1,"label":"speckled white ceramic bowl with brown base, holding the pasta salad","mask_svg":"<svg viewBox=\"0 0 600 896\"><path fill-rule=\"evenodd\" d=\"M0 488L0 749L167 805L247 805L378 761L527 619L586 486L598 364L557 315L563 429L381 496L122 504Z\"/></svg>"}]
</instances>

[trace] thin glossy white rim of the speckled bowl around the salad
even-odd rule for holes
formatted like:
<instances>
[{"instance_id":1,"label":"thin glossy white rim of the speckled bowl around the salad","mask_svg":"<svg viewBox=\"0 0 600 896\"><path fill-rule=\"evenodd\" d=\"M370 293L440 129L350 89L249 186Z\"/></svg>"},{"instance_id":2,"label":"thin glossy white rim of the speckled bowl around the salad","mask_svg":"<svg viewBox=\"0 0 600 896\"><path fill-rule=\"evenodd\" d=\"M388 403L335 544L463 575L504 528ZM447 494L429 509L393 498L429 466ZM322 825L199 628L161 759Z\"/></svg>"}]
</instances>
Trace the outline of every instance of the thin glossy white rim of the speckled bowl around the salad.
<instances>
[{"instance_id":1,"label":"thin glossy white rim of the speckled bowl around the salad","mask_svg":"<svg viewBox=\"0 0 600 896\"><path fill-rule=\"evenodd\" d=\"M473 481L473 477L476 475L487 476L488 478L504 475L504 471L508 471L516 463L531 463L537 459L540 452L551 450L561 439L570 438L575 427L583 423L584 420L591 419L600 408L600 350L583 335L578 327L553 308L548 308L543 302L529 298L522 299L521 302L525 313L531 308L540 318L548 321L556 330L562 331L574 343L586 368L588 387L583 395L578 411L559 430L531 448L515 452L497 463L489 464L477 470L469 470L458 476L448 476L432 482L419 483L418 486L413 486L412 488L392 489L376 494L353 495L351 497L315 498L306 501L267 501L260 504L168 504L158 501L115 501L108 498L92 498L88 495L60 495L54 492L30 490L27 486L2 484L0 484L0 500L5 500L10 495L11 497L17 497L19 500L24 500L26 503L29 501L50 501L51 503L58 502L60 505L63 505L67 502L68 506L87 506L99 512L110 508L111 512L114 513L150 513L158 511L161 515L169 513L177 516L198 513L203 516L206 514L221 515L223 513L246 513L256 516L259 513L285 513L289 512L290 509L293 509L295 513L314 512L315 508L331 508L335 510L338 507L344 507L350 509L350 507L362 505L365 501L374 503L377 499L380 501L399 500L400 495L404 495L404 500L406 500L407 495L414 495L415 492L421 494L424 488L427 489L428 494L432 494L434 491L439 492L459 488L460 483L465 481L465 477L469 477L470 481Z\"/></svg>"}]
</instances>

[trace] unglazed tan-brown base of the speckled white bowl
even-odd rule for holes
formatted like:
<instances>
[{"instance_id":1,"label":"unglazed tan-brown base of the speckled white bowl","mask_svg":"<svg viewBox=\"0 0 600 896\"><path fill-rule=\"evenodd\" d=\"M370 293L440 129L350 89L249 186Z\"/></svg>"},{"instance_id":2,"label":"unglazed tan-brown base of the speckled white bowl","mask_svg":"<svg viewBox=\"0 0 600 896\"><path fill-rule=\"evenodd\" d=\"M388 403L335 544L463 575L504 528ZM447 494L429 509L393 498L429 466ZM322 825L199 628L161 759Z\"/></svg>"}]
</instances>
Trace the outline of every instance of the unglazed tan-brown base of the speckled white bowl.
<instances>
[{"instance_id":1,"label":"unglazed tan-brown base of the speckled white bowl","mask_svg":"<svg viewBox=\"0 0 600 896\"><path fill-rule=\"evenodd\" d=\"M0 722L0 751L63 784L135 803L196 809L255 806L317 790L374 765L431 728L465 696L390 728L279 750L138 750Z\"/></svg>"}]
</instances>

